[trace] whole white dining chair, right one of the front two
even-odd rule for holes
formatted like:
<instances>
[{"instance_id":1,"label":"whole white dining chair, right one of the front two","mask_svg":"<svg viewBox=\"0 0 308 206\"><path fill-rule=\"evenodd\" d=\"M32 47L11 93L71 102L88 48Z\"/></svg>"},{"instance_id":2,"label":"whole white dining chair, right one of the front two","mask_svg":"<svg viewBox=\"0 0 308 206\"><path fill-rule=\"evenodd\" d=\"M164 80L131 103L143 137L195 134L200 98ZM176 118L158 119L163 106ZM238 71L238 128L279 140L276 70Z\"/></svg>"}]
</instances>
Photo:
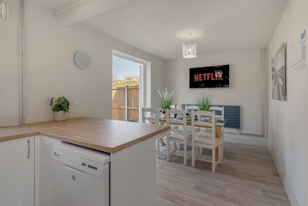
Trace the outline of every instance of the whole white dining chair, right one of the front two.
<instances>
[{"instance_id":1,"label":"whole white dining chair, right one of the front two","mask_svg":"<svg viewBox=\"0 0 308 206\"><path fill-rule=\"evenodd\" d=\"M210 116L212 120L215 120L215 111L193 111L193 115ZM192 130L192 167L195 167L195 161L201 160L204 162L212 163L212 171L215 172L216 166L221 164L221 139L216 137L216 126L215 121L213 122L201 122L193 121L192 127L196 126L207 126L211 129L206 130L206 132L195 132ZM218 146L218 160L216 162L216 147ZM199 147L204 147L207 149L212 149L212 160L203 159L199 157Z\"/></svg>"}]
</instances>

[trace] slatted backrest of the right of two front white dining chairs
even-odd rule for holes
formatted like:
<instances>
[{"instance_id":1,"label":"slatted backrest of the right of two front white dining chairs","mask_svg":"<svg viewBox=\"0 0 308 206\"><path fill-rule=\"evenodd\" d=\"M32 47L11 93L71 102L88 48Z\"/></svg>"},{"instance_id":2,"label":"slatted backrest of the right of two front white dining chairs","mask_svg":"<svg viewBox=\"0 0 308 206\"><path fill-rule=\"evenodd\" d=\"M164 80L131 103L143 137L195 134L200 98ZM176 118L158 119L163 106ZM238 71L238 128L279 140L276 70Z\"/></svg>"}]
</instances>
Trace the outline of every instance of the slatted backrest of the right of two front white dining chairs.
<instances>
[{"instance_id":1,"label":"slatted backrest of the right of two front white dining chairs","mask_svg":"<svg viewBox=\"0 0 308 206\"><path fill-rule=\"evenodd\" d=\"M192 121L192 141L195 141L196 135L212 137L212 145L215 145L215 138L216 138L216 130L215 130L215 111L193 111L192 116L210 116L212 117L212 122L201 122L201 121ZM195 132L195 127L206 126L212 128L212 133L208 132Z\"/></svg>"}]
</instances>

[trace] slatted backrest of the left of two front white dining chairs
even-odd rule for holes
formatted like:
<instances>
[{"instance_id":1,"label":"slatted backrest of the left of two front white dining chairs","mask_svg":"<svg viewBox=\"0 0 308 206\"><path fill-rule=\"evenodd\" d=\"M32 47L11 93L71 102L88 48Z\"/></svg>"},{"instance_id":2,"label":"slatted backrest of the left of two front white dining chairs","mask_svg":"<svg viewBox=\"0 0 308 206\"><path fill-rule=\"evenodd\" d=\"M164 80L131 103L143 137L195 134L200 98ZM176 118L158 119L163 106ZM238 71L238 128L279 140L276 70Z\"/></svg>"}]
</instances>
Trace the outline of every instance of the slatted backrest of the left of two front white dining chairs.
<instances>
[{"instance_id":1,"label":"slatted backrest of the left of two front white dining chairs","mask_svg":"<svg viewBox=\"0 0 308 206\"><path fill-rule=\"evenodd\" d=\"M183 115L183 120L170 118L170 114L177 114L178 116ZM170 124L183 125L184 130L170 129L171 132L180 132L180 133L187 134L186 111L185 110L182 111L182 110L179 110L179 109L166 109L165 115L166 115L167 126L169 126Z\"/></svg>"}]
</instances>

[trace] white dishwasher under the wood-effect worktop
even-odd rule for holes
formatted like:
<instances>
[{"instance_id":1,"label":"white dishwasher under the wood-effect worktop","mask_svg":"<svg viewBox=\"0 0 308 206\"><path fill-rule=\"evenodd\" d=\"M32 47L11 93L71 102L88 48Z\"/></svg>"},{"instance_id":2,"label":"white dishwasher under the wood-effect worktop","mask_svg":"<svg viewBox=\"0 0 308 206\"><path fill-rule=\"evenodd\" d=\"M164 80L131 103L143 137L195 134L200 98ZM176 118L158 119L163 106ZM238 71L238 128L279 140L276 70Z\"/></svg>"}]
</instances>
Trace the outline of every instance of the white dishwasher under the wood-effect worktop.
<instances>
[{"instance_id":1,"label":"white dishwasher under the wood-effect worktop","mask_svg":"<svg viewBox=\"0 0 308 206\"><path fill-rule=\"evenodd\" d=\"M53 161L54 206L109 206L109 153L61 142Z\"/></svg>"}]
</instances>

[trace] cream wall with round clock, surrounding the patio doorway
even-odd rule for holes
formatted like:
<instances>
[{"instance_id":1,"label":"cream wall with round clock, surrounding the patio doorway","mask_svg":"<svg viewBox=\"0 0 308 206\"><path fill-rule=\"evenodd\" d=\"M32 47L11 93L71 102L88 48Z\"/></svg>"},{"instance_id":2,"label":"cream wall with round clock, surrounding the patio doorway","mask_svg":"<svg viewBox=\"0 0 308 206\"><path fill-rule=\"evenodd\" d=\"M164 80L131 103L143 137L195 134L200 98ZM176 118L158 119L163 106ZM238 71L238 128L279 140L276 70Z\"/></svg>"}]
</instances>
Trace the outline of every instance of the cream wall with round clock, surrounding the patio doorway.
<instances>
[{"instance_id":1,"label":"cream wall with round clock, surrounding the patio doorway","mask_svg":"<svg viewBox=\"0 0 308 206\"><path fill-rule=\"evenodd\" d=\"M26 123L52 120L49 101L63 95L82 100L71 105L70 117L111 118L112 49L151 62L151 88L164 88L164 61L155 56L81 23L61 26L54 12L31 0L25 1L25 24ZM73 63L78 50L91 55L90 69ZM151 92L151 106L158 105L158 94Z\"/></svg>"}]
</instances>

